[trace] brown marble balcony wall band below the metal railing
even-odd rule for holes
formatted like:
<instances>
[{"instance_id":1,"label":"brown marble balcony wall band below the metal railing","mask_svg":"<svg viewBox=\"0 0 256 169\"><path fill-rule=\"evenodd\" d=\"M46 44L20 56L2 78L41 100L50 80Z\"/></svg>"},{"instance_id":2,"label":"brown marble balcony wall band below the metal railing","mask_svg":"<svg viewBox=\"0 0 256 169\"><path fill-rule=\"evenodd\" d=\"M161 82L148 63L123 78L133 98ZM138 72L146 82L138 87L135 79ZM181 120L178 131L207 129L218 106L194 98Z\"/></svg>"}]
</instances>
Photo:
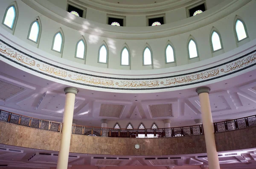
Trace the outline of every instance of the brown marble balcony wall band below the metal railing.
<instances>
[{"instance_id":1,"label":"brown marble balcony wall band below the metal railing","mask_svg":"<svg viewBox=\"0 0 256 169\"><path fill-rule=\"evenodd\" d=\"M215 134L217 150L256 147L256 127ZM58 151L61 133L0 121L0 144ZM134 145L140 144L140 149ZM102 155L181 155L205 153L204 135L175 138L108 138L72 135L70 152Z\"/></svg>"}]
</instances>

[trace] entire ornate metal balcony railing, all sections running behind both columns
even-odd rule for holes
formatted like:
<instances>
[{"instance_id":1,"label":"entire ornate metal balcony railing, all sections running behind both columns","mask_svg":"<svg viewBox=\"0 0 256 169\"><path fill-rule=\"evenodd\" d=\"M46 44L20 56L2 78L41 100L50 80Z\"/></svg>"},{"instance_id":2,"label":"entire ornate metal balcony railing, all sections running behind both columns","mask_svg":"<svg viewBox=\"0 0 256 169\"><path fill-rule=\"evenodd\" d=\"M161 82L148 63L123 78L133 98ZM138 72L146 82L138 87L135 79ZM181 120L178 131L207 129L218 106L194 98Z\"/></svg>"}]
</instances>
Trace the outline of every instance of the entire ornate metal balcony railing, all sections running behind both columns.
<instances>
[{"instance_id":1,"label":"entire ornate metal balcony railing, all sections running behind both columns","mask_svg":"<svg viewBox=\"0 0 256 169\"><path fill-rule=\"evenodd\" d=\"M62 126L62 123L59 122L41 120L4 110L0 110L0 121L54 132L61 132ZM256 115L214 123L214 132L238 130L253 126L256 126ZM204 129L203 125L159 129L113 129L72 125L72 134L120 138L162 138L203 135Z\"/></svg>"}]
</instances>

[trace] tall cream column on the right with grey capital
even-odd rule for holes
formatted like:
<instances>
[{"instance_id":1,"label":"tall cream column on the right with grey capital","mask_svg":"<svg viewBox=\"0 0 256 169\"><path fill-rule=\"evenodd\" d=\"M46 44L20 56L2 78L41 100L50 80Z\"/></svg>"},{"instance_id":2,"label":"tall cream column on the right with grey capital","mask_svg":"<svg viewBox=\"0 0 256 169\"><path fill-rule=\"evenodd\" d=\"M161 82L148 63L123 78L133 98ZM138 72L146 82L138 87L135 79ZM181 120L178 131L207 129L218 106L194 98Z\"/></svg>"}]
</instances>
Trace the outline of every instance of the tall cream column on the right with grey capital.
<instances>
[{"instance_id":1,"label":"tall cream column on the right with grey capital","mask_svg":"<svg viewBox=\"0 0 256 169\"><path fill-rule=\"evenodd\" d=\"M212 122L212 111L210 107L209 99L209 87L198 87L196 92L199 95L202 121L204 127L204 138L207 150L207 159L209 169L220 169L220 164L218 160L218 152L216 150L215 138L214 138L214 128Z\"/></svg>"}]
</instances>

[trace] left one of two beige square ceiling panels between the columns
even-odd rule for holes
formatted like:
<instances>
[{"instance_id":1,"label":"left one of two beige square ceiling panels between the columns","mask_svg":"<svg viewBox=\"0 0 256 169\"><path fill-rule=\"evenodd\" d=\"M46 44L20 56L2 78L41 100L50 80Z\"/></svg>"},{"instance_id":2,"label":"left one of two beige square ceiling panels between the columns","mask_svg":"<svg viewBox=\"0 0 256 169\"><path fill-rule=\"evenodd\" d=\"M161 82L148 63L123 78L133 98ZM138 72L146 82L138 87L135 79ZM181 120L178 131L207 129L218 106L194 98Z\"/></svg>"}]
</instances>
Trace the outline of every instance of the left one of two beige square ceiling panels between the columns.
<instances>
[{"instance_id":1,"label":"left one of two beige square ceiling panels between the columns","mask_svg":"<svg viewBox=\"0 0 256 169\"><path fill-rule=\"evenodd\" d=\"M99 116L119 117L123 108L124 105L120 104L101 104Z\"/></svg>"}]
</instances>

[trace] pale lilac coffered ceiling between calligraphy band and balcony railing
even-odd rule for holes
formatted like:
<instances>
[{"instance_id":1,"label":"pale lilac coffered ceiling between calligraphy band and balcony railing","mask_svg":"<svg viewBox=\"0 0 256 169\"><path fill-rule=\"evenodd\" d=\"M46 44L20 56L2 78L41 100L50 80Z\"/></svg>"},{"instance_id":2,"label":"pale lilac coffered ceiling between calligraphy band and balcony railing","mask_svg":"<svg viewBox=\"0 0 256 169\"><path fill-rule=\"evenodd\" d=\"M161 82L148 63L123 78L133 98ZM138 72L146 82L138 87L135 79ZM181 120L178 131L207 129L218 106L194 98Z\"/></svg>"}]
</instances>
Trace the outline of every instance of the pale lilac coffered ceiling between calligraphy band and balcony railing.
<instances>
[{"instance_id":1,"label":"pale lilac coffered ceiling between calligraphy band and balcony railing","mask_svg":"<svg viewBox=\"0 0 256 169\"><path fill-rule=\"evenodd\" d=\"M62 122L67 87L0 62L0 109ZM256 70L208 85L213 121L256 114ZM114 93L79 89L76 124L101 126L108 120L170 119L172 127L194 125L201 118L195 88L163 93ZM126 124L125 124L126 125ZM124 125L124 126L125 126Z\"/></svg>"}]
</instances>

